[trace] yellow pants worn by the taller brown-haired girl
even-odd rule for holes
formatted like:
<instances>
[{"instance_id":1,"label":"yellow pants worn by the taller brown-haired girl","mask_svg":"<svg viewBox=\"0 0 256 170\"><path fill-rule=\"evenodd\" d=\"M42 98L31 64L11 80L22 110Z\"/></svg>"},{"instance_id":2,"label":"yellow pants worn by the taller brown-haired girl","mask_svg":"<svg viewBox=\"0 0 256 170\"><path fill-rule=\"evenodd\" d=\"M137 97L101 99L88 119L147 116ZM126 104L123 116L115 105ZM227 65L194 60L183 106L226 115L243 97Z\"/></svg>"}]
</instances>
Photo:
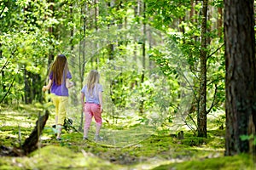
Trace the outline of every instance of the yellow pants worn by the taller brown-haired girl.
<instances>
[{"instance_id":1,"label":"yellow pants worn by the taller brown-haired girl","mask_svg":"<svg viewBox=\"0 0 256 170\"><path fill-rule=\"evenodd\" d=\"M52 94L51 99L53 101L53 104L55 105L55 116L58 117L57 124L63 125L67 115L67 96L57 96L55 94Z\"/></svg>"}]
</instances>

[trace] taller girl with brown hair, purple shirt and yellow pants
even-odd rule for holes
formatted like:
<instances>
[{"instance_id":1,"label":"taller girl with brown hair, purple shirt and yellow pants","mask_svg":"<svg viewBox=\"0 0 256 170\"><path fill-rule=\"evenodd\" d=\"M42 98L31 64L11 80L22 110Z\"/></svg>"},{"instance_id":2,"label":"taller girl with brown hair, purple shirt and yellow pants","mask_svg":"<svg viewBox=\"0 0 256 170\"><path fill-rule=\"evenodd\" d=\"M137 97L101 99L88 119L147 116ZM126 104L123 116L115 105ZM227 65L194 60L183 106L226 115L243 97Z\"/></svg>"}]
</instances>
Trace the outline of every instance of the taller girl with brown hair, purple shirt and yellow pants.
<instances>
[{"instance_id":1,"label":"taller girl with brown hair, purple shirt and yellow pants","mask_svg":"<svg viewBox=\"0 0 256 170\"><path fill-rule=\"evenodd\" d=\"M43 91L49 90L51 99L55 105L55 127L57 139L61 140L61 129L67 115L68 88L73 87L72 78L68 70L67 58L63 54L57 55L49 71L49 82L43 87Z\"/></svg>"}]
</instances>

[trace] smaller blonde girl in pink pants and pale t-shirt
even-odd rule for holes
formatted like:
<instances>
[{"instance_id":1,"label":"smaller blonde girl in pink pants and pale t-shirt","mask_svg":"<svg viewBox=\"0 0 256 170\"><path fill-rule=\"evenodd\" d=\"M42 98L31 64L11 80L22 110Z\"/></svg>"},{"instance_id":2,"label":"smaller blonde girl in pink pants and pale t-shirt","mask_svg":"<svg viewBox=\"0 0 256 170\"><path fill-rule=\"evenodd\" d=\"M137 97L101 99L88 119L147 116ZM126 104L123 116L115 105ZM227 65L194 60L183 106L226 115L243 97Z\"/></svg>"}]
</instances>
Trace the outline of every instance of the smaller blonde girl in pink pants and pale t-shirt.
<instances>
[{"instance_id":1,"label":"smaller blonde girl in pink pants and pale t-shirt","mask_svg":"<svg viewBox=\"0 0 256 170\"><path fill-rule=\"evenodd\" d=\"M92 117L96 121L95 140L102 140L99 135L102 127L102 85L99 83L100 74L92 70L87 77L87 83L81 90L81 102L84 111L84 139L88 139ZM84 102L85 98L85 102Z\"/></svg>"}]
</instances>

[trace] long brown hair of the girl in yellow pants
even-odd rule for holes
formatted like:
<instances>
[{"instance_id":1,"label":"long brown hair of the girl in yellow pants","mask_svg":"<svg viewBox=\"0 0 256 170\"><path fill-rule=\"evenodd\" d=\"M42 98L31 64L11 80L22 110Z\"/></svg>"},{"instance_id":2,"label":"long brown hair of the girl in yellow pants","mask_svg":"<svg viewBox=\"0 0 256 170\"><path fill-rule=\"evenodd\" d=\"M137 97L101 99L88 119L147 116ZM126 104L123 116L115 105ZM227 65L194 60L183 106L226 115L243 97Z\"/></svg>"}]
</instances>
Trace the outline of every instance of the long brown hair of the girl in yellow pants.
<instances>
[{"instance_id":1,"label":"long brown hair of the girl in yellow pants","mask_svg":"<svg viewBox=\"0 0 256 170\"><path fill-rule=\"evenodd\" d=\"M67 57L64 54L58 54L55 61L52 63L50 67L50 72L53 72L53 81L57 85L61 85L63 82L63 75L64 77L67 76Z\"/></svg>"}]
</instances>

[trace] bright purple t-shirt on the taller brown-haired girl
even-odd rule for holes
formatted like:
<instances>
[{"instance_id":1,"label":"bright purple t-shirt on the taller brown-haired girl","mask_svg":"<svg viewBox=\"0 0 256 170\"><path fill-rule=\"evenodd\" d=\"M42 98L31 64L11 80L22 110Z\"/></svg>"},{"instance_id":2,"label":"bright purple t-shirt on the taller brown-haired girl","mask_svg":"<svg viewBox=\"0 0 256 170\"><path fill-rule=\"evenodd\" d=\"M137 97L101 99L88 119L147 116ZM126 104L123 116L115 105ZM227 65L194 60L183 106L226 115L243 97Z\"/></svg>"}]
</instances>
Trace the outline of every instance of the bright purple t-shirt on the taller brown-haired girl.
<instances>
[{"instance_id":1,"label":"bright purple t-shirt on the taller brown-haired girl","mask_svg":"<svg viewBox=\"0 0 256 170\"><path fill-rule=\"evenodd\" d=\"M64 77L64 75L63 75ZM61 85L57 85L54 81L51 85L50 88L50 93L58 95L58 96L68 96L68 89L66 87L66 79L71 79L71 73L69 71L67 71L67 77L63 78L63 82L61 83ZM53 72L51 72L49 74L49 79L52 80L53 79Z\"/></svg>"}]
</instances>

